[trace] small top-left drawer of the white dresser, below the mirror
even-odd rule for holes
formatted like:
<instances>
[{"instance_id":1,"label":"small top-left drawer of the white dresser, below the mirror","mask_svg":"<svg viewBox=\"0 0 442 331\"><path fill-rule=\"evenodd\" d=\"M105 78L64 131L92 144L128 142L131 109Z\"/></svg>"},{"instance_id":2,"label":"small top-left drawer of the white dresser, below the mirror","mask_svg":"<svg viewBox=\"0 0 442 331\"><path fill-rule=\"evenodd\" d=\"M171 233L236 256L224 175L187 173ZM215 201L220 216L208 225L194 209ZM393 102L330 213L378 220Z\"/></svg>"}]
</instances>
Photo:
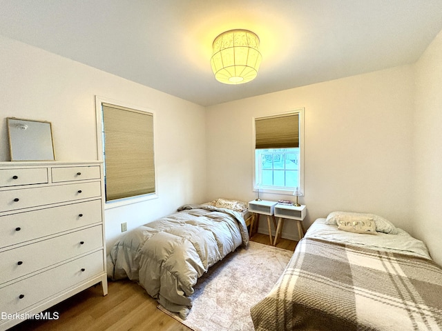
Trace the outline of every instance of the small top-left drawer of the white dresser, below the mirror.
<instances>
[{"instance_id":1,"label":"small top-left drawer of the white dresser, below the mirror","mask_svg":"<svg viewBox=\"0 0 442 331\"><path fill-rule=\"evenodd\" d=\"M47 168L0 170L0 187L43 183L48 183Z\"/></svg>"}]
</instances>

